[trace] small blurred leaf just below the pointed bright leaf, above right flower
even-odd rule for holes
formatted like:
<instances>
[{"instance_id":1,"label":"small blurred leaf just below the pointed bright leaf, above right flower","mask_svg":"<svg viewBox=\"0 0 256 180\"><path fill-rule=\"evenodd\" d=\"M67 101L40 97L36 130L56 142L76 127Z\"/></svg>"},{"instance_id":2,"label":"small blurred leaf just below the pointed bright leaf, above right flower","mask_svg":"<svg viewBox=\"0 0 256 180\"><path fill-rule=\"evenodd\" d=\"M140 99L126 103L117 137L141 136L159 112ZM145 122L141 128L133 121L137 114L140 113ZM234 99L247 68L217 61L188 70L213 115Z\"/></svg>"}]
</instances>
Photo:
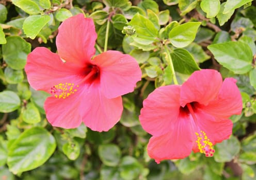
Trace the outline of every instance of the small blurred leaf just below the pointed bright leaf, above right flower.
<instances>
[{"instance_id":1,"label":"small blurred leaf just below the pointed bright leaf, above right flower","mask_svg":"<svg viewBox=\"0 0 256 180\"><path fill-rule=\"evenodd\" d=\"M208 56L202 49L202 46L197 43L191 43L187 47L185 47L195 58L197 63L202 63L211 57Z\"/></svg>"}]
</instances>

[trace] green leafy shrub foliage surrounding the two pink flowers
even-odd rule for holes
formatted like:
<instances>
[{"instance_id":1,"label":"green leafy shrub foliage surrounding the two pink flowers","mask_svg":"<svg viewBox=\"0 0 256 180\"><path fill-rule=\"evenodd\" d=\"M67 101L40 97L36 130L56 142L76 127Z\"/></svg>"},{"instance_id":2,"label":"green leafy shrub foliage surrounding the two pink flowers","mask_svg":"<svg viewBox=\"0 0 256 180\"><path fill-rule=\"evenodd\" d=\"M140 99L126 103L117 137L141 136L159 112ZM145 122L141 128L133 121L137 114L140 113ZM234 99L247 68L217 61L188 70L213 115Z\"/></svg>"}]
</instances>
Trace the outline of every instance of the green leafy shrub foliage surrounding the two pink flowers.
<instances>
[{"instance_id":1,"label":"green leafy shrub foliage surrounding the two pink flowers","mask_svg":"<svg viewBox=\"0 0 256 180\"><path fill-rule=\"evenodd\" d=\"M55 52L58 26L78 13L94 20L97 53L128 53L142 70L108 132L52 127L43 110L49 95L29 87L24 72L28 53ZM255 29L252 0L1 0L0 179L256 179ZM192 153L157 165L138 120L142 100L200 68L237 79L243 113L231 117L233 135L214 157Z\"/></svg>"}]
</instances>

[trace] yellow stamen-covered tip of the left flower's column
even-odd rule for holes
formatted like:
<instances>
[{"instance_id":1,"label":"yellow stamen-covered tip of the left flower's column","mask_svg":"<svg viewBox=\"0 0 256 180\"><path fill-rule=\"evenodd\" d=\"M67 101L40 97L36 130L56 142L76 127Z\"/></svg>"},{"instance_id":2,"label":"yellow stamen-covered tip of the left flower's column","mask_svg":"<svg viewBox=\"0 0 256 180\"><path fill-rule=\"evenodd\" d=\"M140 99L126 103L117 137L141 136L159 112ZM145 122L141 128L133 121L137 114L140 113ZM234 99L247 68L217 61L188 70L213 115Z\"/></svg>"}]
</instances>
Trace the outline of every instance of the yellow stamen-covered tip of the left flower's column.
<instances>
[{"instance_id":1,"label":"yellow stamen-covered tip of the left flower's column","mask_svg":"<svg viewBox=\"0 0 256 180\"><path fill-rule=\"evenodd\" d=\"M58 99L66 99L77 91L77 87L79 86L74 83L59 83L51 87L50 93Z\"/></svg>"}]
</instances>

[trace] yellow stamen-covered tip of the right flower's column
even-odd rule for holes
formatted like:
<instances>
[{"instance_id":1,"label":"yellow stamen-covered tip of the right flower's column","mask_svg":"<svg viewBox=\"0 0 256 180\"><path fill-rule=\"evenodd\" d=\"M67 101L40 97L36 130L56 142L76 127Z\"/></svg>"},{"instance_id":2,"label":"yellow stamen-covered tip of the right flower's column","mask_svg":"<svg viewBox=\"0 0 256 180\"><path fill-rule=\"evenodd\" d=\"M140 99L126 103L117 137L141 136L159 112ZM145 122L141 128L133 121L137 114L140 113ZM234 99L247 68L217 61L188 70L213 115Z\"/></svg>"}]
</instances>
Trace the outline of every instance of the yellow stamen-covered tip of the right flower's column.
<instances>
[{"instance_id":1,"label":"yellow stamen-covered tip of the right flower's column","mask_svg":"<svg viewBox=\"0 0 256 180\"><path fill-rule=\"evenodd\" d=\"M204 131L196 132L197 135L197 146L200 153L204 153L206 157L212 157L215 150L213 149L213 143L206 136Z\"/></svg>"}]
</instances>

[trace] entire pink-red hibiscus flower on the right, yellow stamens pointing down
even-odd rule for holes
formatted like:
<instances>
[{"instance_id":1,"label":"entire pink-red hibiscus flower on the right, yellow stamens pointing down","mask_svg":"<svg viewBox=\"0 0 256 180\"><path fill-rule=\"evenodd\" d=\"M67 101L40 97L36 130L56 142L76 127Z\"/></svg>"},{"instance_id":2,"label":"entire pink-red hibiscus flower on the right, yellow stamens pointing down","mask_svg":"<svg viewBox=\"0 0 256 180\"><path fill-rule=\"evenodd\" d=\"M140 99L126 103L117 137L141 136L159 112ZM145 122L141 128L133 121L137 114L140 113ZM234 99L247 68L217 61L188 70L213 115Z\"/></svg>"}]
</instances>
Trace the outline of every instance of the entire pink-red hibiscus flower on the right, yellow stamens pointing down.
<instances>
[{"instance_id":1,"label":"entire pink-red hibiscus flower on the right, yellow stamens pointing down","mask_svg":"<svg viewBox=\"0 0 256 180\"><path fill-rule=\"evenodd\" d=\"M241 114L242 98L235 84L222 83L216 70L195 71L181 86L156 88L143 101L139 116L143 129L153 135L148 153L156 163L181 159L191 151L213 156L213 146L232 134L228 118Z\"/></svg>"}]
</instances>

